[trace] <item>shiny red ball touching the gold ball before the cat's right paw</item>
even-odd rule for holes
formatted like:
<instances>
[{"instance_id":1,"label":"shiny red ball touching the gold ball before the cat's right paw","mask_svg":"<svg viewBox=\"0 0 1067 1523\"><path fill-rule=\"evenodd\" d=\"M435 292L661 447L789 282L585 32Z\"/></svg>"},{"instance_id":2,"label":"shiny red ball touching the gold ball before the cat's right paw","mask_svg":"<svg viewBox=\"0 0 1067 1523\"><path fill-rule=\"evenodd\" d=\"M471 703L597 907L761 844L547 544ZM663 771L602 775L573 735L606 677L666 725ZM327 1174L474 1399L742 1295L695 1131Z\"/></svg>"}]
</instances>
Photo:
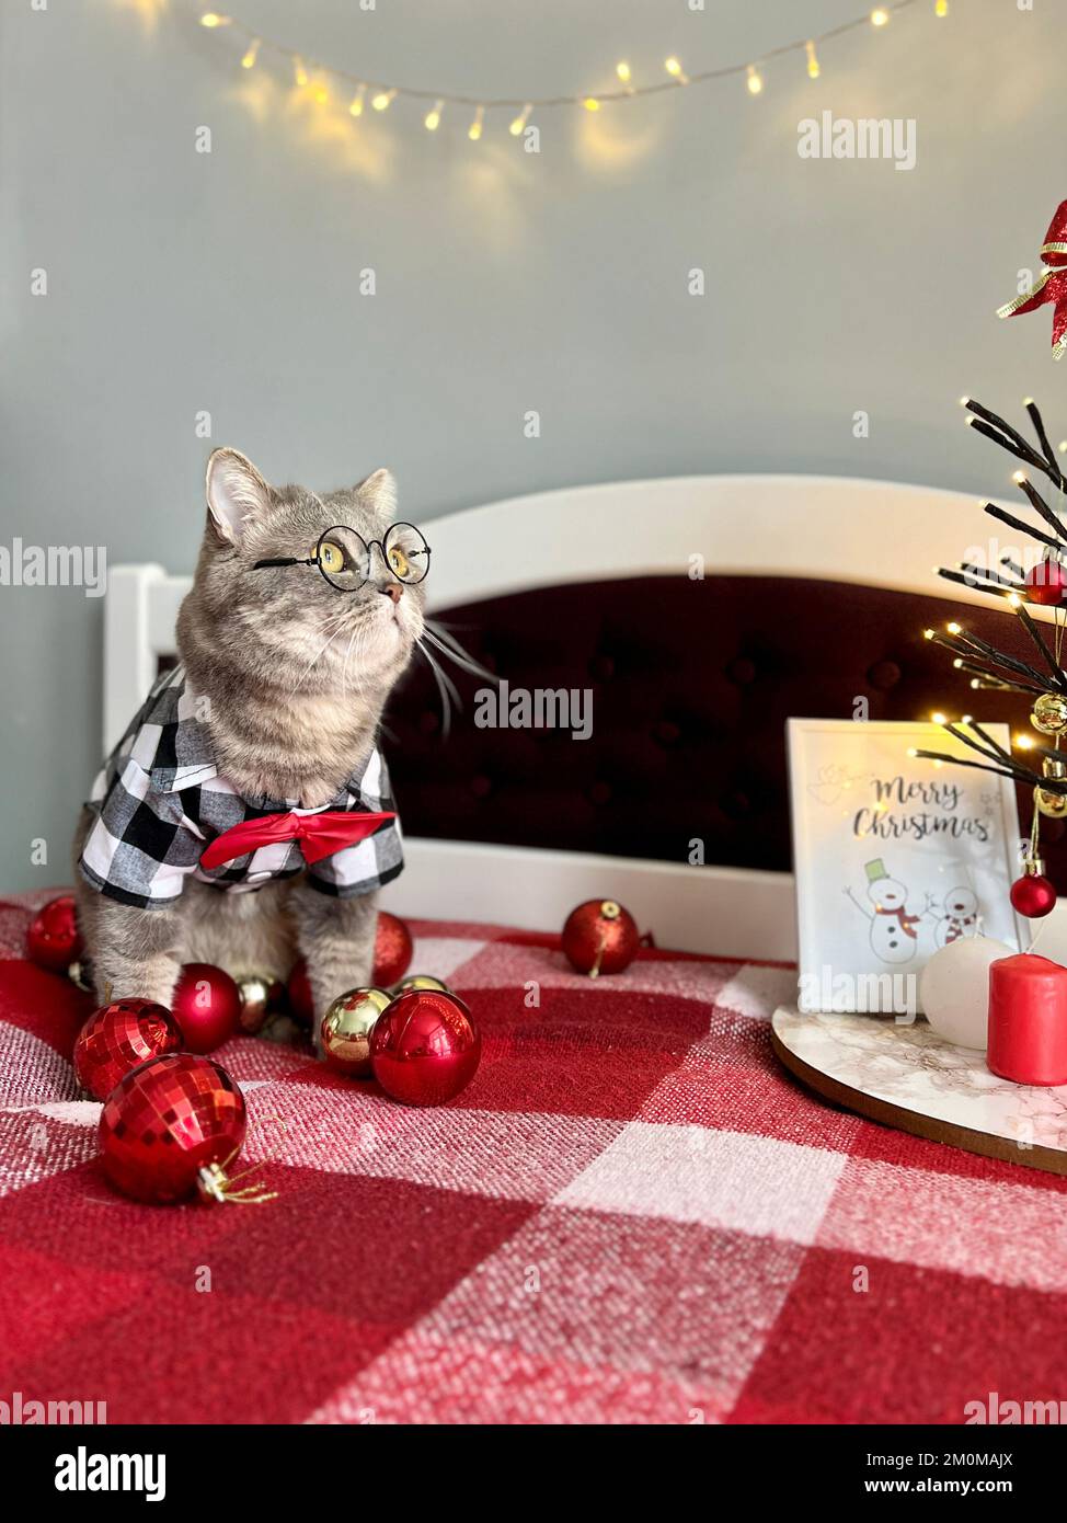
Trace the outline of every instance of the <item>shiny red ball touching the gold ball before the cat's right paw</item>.
<instances>
[{"instance_id":1,"label":"shiny red ball touching the gold ball before the cat's right paw","mask_svg":"<svg viewBox=\"0 0 1067 1523\"><path fill-rule=\"evenodd\" d=\"M473 1078L481 1037L470 1011L437 988L399 995L370 1034L370 1066L387 1095L405 1106L441 1106Z\"/></svg>"}]
</instances>

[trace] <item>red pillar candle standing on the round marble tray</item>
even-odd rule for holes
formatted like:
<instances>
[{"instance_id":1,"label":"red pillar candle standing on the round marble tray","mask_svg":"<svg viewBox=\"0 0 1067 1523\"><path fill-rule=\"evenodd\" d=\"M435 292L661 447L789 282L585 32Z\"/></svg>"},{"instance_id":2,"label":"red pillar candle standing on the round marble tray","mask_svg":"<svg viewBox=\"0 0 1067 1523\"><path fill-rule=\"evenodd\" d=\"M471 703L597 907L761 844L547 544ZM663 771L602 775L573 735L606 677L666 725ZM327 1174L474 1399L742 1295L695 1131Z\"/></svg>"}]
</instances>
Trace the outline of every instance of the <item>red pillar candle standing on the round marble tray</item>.
<instances>
[{"instance_id":1,"label":"red pillar candle standing on the round marble tray","mask_svg":"<svg viewBox=\"0 0 1067 1523\"><path fill-rule=\"evenodd\" d=\"M1017 1084L1067 1084L1067 967L1032 952L989 964L986 1065Z\"/></svg>"}]
</instances>

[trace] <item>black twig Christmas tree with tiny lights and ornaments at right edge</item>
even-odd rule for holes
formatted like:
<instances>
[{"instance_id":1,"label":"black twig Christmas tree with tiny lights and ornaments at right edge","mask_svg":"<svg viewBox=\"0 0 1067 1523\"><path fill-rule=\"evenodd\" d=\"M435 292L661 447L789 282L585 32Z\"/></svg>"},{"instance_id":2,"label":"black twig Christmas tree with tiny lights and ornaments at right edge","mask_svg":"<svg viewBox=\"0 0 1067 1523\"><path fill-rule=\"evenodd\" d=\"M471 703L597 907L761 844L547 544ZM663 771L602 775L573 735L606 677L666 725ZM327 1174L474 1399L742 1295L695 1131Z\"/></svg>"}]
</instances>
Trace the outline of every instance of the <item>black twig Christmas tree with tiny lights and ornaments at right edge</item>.
<instances>
[{"instance_id":1,"label":"black twig Christmas tree with tiny lights and ornaments at right edge","mask_svg":"<svg viewBox=\"0 0 1067 1523\"><path fill-rule=\"evenodd\" d=\"M1017 751L1034 752L1035 763L1038 763L1038 766L1027 766L999 745L970 716L953 723L944 714L935 714L935 720L944 726L948 736L982 760L925 749L916 749L913 755L950 766L977 768L1034 789L1029 850L1023 862L1023 877L1012 885L1012 905L1020 914L1037 917L1049 914L1056 902L1055 888L1044 877L1040 856L1041 818L1062 819L1067 816L1067 752L1061 751L1061 743L1067 736L1067 672L1062 666L1062 641L1067 627L1064 623L1064 611L1067 609L1067 565L1064 564L1067 521L1037 490L1027 471L1047 477L1059 493L1061 503L1067 493L1067 477L1059 466L1056 451L1049 442L1044 420L1032 398L1027 398L1023 405L1037 436L1037 446L997 413L991 413L988 407L970 396L960 401L968 413L967 422L976 433L991 439L1015 460L1023 461L1026 469L1015 471L1012 480L1041 527L1038 522L1015 518L1014 513L997 507L995 503L986 503L985 512L1024 538L1035 541L1040 548L1035 551L1035 564L1029 570L1003 554L997 570L960 562L954 568L941 567L939 576L1000 599L1026 631L1032 656L1021 659L1000 650L954 620L945 626L944 634L927 629L925 637L951 652L953 666L957 672L970 676L973 688L1026 693L1032 699L1030 723L1041 736L1050 739L1052 745L1041 745L1029 736L1017 736ZM1062 451L1065 446L1059 448ZM1052 611L1050 640L1027 605Z\"/></svg>"}]
</instances>

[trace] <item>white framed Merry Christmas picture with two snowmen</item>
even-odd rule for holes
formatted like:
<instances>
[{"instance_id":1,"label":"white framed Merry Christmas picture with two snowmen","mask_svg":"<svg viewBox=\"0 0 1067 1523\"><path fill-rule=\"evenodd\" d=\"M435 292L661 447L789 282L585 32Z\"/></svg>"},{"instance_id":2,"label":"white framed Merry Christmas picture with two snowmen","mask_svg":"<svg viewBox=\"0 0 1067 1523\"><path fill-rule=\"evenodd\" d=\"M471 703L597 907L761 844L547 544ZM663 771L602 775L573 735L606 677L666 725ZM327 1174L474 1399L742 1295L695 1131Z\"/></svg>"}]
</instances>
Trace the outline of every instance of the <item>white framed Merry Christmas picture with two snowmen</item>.
<instances>
[{"instance_id":1,"label":"white framed Merry Christmas picture with two snowmen","mask_svg":"<svg viewBox=\"0 0 1067 1523\"><path fill-rule=\"evenodd\" d=\"M1008 725L982 728L1011 748ZM919 975L941 946L977 934L1018 950L1009 778L913 755L976 760L935 723L790 719L785 731L799 1010L921 1014Z\"/></svg>"}]
</instances>

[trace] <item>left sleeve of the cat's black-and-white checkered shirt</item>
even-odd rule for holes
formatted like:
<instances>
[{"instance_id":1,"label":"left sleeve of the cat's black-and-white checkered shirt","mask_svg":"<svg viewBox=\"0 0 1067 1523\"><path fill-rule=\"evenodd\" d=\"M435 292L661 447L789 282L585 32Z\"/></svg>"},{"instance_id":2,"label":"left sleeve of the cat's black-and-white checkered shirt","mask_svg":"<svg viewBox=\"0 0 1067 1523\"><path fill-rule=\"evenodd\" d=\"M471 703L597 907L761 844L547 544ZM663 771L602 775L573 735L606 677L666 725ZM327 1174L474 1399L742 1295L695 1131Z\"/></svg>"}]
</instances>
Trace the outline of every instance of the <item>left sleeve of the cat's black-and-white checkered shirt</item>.
<instances>
[{"instance_id":1,"label":"left sleeve of the cat's black-and-white checkered shirt","mask_svg":"<svg viewBox=\"0 0 1067 1523\"><path fill-rule=\"evenodd\" d=\"M180 897L202 850L180 800L152 787L149 774L126 760L99 804L78 871L120 905L161 909Z\"/></svg>"}]
</instances>

